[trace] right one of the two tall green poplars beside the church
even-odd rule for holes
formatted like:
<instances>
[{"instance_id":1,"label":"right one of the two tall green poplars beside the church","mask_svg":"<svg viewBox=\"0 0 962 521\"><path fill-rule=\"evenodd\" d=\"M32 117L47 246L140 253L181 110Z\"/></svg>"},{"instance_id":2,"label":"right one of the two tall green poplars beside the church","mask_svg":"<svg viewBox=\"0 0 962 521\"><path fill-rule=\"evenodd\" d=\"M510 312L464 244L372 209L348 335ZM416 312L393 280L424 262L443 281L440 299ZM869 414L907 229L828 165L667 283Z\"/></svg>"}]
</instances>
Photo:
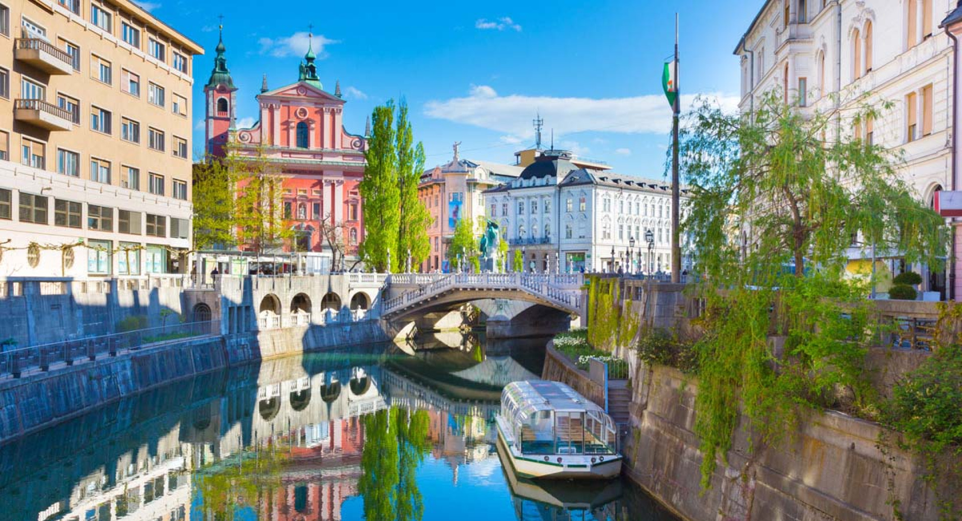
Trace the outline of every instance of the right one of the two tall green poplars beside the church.
<instances>
[{"instance_id":1,"label":"right one of the two tall green poplars beside the church","mask_svg":"<svg viewBox=\"0 0 962 521\"><path fill-rule=\"evenodd\" d=\"M404 269L410 252L411 265L417 266L431 253L427 227L431 215L418 199L418 183L424 171L424 147L414 143L408 104L404 100L397 108L397 177L400 186L400 223L397 232L398 256L395 268Z\"/></svg>"}]
</instances>

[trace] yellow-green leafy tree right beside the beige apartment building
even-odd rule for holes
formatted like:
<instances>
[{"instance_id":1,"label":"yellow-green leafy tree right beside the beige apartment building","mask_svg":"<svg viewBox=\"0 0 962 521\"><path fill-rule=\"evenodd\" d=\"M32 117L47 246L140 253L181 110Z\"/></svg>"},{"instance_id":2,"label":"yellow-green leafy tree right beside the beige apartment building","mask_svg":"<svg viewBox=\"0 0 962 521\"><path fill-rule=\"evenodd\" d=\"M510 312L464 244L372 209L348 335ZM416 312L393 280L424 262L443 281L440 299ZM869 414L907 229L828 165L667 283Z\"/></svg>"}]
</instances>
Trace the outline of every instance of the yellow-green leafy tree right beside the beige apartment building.
<instances>
[{"instance_id":1,"label":"yellow-green leafy tree right beside the beige apartment building","mask_svg":"<svg viewBox=\"0 0 962 521\"><path fill-rule=\"evenodd\" d=\"M235 242L235 172L227 161L209 158L193 167L193 249L230 247Z\"/></svg>"}]
</instances>

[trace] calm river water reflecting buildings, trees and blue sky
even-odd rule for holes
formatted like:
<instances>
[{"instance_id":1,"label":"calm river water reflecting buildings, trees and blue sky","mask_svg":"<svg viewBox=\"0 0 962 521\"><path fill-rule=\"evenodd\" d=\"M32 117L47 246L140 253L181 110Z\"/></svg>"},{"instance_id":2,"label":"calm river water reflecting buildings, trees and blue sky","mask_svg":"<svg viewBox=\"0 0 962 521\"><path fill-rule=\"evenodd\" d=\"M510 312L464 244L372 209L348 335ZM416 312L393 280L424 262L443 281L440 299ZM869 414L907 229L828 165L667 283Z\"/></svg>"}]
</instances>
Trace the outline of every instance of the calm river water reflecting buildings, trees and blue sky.
<instances>
[{"instance_id":1,"label":"calm river water reflecting buildings, trees and blue sky","mask_svg":"<svg viewBox=\"0 0 962 521\"><path fill-rule=\"evenodd\" d=\"M0 521L675 521L623 480L506 474L498 395L544 342L435 335L140 393L0 446Z\"/></svg>"}]
</instances>

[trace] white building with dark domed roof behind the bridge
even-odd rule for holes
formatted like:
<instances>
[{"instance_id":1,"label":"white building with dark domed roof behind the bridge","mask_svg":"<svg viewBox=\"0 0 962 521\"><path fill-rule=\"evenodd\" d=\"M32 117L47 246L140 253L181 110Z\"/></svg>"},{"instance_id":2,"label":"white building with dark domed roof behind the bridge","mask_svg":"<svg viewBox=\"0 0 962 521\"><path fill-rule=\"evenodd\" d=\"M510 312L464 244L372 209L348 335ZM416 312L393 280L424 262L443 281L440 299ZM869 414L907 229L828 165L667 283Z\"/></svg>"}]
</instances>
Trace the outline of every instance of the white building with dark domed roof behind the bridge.
<instances>
[{"instance_id":1,"label":"white building with dark domed roof behind the bridge","mask_svg":"<svg viewBox=\"0 0 962 521\"><path fill-rule=\"evenodd\" d=\"M488 217L510 244L509 266L521 251L524 268L538 272L671 270L666 184L579 165L570 152L547 150L517 180L484 197ZM682 213L684 201L683 191ZM682 264L691 268L687 258Z\"/></svg>"}]
</instances>

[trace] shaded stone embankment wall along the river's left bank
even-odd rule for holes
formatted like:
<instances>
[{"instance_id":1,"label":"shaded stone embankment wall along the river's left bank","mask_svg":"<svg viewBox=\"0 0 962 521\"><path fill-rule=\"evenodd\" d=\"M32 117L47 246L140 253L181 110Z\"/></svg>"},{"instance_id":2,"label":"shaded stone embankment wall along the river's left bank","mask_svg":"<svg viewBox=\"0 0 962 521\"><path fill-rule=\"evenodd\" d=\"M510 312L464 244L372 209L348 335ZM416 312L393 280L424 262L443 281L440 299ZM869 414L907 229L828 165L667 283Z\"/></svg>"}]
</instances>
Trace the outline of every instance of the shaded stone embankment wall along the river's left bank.
<instances>
[{"instance_id":1,"label":"shaded stone embankment wall along the river's left bank","mask_svg":"<svg viewBox=\"0 0 962 521\"><path fill-rule=\"evenodd\" d=\"M51 366L0 381L0 442L32 433L143 390L241 365L387 340L378 320L205 336L158 343L114 358Z\"/></svg>"}]
</instances>

